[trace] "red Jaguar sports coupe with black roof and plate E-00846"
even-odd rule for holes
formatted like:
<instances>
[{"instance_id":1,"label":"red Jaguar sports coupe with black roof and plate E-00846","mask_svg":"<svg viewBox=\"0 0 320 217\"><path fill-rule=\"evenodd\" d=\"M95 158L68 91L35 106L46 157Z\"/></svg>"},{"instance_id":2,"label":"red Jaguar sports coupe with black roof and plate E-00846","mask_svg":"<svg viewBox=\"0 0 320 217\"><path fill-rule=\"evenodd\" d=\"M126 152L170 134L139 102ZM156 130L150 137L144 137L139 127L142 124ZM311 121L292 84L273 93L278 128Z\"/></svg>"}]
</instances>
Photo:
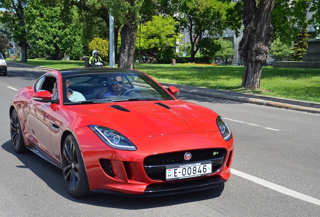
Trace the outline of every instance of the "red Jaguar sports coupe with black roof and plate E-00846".
<instances>
[{"instance_id":1,"label":"red Jaguar sports coupe with black roof and plate E-00846","mask_svg":"<svg viewBox=\"0 0 320 217\"><path fill-rule=\"evenodd\" d=\"M13 148L60 167L74 197L219 186L230 176L232 133L213 111L178 100L178 92L136 70L47 72L10 105Z\"/></svg>"}]
</instances>

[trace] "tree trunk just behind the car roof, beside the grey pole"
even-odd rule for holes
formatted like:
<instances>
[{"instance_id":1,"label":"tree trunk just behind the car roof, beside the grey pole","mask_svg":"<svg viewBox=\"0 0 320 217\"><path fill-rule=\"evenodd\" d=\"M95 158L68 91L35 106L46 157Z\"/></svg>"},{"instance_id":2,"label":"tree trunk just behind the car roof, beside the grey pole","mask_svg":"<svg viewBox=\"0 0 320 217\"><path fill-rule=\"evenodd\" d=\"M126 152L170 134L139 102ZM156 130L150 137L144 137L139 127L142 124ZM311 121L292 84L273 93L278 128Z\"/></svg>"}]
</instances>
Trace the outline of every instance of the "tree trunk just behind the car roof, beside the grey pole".
<instances>
[{"instance_id":1,"label":"tree trunk just behind the car roof, beside the grey pole","mask_svg":"<svg viewBox=\"0 0 320 217\"><path fill-rule=\"evenodd\" d=\"M134 69L134 51L138 24L125 24L121 31L118 68Z\"/></svg>"}]
</instances>

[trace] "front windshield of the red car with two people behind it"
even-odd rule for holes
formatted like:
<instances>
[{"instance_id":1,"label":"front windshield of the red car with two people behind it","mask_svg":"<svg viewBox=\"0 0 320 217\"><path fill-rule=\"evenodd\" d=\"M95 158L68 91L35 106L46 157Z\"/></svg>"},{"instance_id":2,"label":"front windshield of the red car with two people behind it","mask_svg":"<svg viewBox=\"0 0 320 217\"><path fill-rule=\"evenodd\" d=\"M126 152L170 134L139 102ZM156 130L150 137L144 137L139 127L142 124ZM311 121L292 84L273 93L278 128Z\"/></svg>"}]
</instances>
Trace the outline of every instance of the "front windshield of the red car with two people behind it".
<instances>
[{"instance_id":1,"label":"front windshield of the red car with two people behind it","mask_svg":"<svg viewBox=\"0 0 320 217\"><path fill-rule=\"evenodd\" d=\"M64 104L175 99L143 73L88 73L62 80Z\"/></svg>"}]
</instances>

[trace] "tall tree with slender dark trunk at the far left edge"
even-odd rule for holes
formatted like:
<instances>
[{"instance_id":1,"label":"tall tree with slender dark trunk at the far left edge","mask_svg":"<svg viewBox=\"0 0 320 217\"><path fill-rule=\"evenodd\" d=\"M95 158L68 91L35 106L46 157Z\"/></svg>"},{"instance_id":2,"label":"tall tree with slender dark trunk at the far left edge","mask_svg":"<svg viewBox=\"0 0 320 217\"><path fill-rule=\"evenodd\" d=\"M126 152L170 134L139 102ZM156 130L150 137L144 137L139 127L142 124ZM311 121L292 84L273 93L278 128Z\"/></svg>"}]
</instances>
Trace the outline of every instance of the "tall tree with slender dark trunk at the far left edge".
<instances>
[{"instance_id":1,"label":"tall tree with slender dark trunk at the far left edge","mask_svg":"<svg viewBox=\"0 0 320 217\"><path fill-rule=\"evenodd\" d=\"M7 10L4 12L1 21L12 30L12 37L21 48L20 59L23 63L27 62L27 49L29 46L26 37L27 31L24 12L28 3L28 0L3 0L0 2L0 8Z\"/></svg>"}]
</instances>

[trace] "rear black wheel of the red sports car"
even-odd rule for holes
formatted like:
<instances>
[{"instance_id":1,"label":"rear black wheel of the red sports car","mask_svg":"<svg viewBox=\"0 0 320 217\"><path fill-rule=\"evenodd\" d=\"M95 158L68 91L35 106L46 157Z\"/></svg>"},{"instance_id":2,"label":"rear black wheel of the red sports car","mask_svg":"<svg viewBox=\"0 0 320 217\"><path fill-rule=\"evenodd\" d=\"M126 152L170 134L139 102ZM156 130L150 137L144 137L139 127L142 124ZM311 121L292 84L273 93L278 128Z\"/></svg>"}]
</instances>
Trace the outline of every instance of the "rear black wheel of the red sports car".
<instances>
[{"instance_id":1,"label":"rear black wheel of the red sports car","mask_svg":"<svg viewBox=\"0 0 320 217\"><path fill-rule=\"evenodd\" d=\"M14 151L17 153L26 152L27 148L25 146L19 116L16 110L14 110L10 116L10 132Z\"/></svg>"}]
</instances>

